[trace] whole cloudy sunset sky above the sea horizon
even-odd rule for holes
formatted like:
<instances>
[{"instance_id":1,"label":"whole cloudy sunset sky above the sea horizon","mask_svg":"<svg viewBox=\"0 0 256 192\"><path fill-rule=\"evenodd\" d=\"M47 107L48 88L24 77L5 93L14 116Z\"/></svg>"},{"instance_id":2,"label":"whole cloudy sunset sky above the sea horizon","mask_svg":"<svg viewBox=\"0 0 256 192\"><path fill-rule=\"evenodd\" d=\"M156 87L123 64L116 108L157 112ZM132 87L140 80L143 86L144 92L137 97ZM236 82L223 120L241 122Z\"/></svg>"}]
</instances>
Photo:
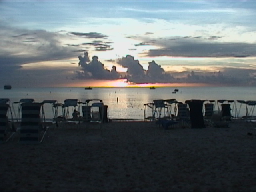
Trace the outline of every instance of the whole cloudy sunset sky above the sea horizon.
<instances>
[{"instance_id":1,"label":"whole cloudy sunset sky above the sea horizon","mask_svg":"<svg viewBox=\"0 0 256 192\"><path fill-rule=\"evenodd\" d=\"M256 86L256 1L0 0L0 86Z\"/></svg>"}]
</instances>

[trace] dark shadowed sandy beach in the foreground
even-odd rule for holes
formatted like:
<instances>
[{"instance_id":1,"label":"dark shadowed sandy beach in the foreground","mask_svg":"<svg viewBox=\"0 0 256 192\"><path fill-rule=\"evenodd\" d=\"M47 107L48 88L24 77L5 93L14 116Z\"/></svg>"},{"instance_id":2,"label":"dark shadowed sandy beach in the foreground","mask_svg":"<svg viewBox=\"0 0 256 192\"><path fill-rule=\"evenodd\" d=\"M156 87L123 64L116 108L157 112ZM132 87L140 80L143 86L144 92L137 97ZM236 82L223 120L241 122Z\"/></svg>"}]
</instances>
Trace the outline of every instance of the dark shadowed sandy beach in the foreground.
<instances>
[{"instance_id":1,"label":"dark shadowed sandy beach in the foreground","mask_svg":"<svg viewBox=\"0 0 256 192\"><path fill-rule=\"evenodd\" d=\"M254 125L170 128L110 122L1 144L0 191L256 191ZM253 135L248 135L252 132Z\"/></svg>"}]
</instances>

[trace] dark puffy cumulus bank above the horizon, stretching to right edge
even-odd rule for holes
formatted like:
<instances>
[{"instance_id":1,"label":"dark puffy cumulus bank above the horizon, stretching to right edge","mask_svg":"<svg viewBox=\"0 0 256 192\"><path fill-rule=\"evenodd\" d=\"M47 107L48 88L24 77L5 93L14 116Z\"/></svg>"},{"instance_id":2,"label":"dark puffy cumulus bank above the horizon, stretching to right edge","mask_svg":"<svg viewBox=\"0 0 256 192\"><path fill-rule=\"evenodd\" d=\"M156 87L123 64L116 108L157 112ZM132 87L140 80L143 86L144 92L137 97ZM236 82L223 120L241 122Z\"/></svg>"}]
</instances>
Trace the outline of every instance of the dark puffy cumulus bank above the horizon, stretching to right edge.
<instances>
[{"instance_id":1,"label":"dark puffy cumulus bank above the horizon, stretching to right edge","mask_svg":"<svg viewBox=\"0 0 256 192\"><path fill-rule=\"evenodd\" d=\"M215 72L205 71L183 71L166 72L155 61L148 62L148 70L144 70L139 60L127 55L116 61L117 64L127 68L126 76L122 77L113 66L111 71L105 70L98 57L94 56L89 62L88 53L79 56L79 65L83 72L78 74L79 78L112 79L126 78L132 84L140 83L204 83L216 86L254 86L256 85L256 70L242 68L219 68ZM113 60L112 60L113 61ZM114 62L114 61L113 61ZM96 74L94 71L100 71ZM100 77L98 76L100 74Z\"/></svg>"}]
</instances>

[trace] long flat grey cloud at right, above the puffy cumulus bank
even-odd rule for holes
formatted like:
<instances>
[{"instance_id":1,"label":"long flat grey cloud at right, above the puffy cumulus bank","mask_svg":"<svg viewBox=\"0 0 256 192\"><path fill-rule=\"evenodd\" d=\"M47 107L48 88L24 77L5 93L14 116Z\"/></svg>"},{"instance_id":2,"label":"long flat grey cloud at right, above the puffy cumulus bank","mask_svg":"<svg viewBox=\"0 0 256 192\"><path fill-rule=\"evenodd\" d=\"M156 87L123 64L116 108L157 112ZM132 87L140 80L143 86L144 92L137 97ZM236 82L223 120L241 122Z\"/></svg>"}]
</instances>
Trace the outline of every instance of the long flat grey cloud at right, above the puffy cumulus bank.
<instances>
[{"instance_id":1,"label":"long flat grey cloud at right, above the puffy cumulus bank","mask_svg":"<svg viewBox=\"0 0 256 192\"><path fill-rule=\"evenodd\" d=\"M216 39L219 37L210 37ZM202 39L201 37L172 38L171 40L156 40L152 45L161 46L151 49L147 56L174 56L174 57L248 57L256 56L255 44L216 42Z\"/></svg>"}]
</instances>

